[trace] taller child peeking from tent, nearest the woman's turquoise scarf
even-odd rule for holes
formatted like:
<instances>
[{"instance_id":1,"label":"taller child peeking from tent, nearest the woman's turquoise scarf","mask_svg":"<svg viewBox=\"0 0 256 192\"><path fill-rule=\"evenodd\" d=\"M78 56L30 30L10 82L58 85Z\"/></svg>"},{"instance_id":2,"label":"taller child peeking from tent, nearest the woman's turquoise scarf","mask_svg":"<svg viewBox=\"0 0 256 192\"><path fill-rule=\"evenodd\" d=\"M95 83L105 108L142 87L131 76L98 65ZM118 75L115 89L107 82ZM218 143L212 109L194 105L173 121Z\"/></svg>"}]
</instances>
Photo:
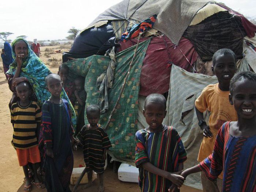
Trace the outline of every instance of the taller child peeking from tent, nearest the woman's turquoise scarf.
<instances>
[{"instance_id":1,"label":"taller child peeking from tent, nearest the woman's turquoise scarf","mask_svg":"<svg viewBox=\"0 0 256 192\"><path fill-rule=\"evenodd\" d=\"M69 72L68 66L64 64L60 64L58 75L60 75L61 81L63 82L63 88L67 93L70 102L73 105L74 101L72 100L72 94L74 91L74 84L71 80L68 79L68 72Z\"/></svg>"}]
</instances>

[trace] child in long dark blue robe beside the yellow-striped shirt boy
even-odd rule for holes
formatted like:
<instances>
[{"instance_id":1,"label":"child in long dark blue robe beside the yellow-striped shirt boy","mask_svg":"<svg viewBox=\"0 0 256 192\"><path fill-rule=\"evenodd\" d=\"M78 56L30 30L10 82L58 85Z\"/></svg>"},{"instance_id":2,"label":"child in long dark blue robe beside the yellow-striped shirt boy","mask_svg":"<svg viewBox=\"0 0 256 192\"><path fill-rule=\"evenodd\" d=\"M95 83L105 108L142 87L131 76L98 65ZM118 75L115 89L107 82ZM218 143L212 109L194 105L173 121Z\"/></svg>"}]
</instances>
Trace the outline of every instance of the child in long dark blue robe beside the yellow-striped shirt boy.
<instances>
[{"instance_id":1,"label":"child in long dark blue robe beside the yellow-striped shirt boy","mask_svg":"<svg viewBox=\"0 0 256 192\"><path fill-rule=\"evenodd\" d=\"M67 100L60 98L60 76L49 74L45 78L52 96L42 106L42 125L39 147L44 148L45 187L47 191L70 191L73 170L71 113Z\"/></svg>"}]
</instances>

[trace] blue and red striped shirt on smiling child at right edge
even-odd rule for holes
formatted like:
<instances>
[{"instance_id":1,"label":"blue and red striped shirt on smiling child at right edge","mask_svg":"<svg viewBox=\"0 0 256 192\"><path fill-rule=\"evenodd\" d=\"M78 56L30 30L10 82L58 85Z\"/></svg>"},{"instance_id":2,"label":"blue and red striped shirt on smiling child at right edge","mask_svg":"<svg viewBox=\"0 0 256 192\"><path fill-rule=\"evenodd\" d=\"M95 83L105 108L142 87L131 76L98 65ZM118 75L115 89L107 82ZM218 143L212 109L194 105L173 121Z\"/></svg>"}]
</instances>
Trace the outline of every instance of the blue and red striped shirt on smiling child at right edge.
<instances>
[{"instance_id":1,"label":"blue and red striped shirt on smiling child at right edge","mask_svg":"<svg viewBox=\"0 0 256 192\"><path fill-rule=\"evenodd\" d=\"M212 154L199 163L208 179L214 181L223 170L222 191L256 191L256 135L235 137L229 123L219 129Z\"/></svg>"}]
</instances>

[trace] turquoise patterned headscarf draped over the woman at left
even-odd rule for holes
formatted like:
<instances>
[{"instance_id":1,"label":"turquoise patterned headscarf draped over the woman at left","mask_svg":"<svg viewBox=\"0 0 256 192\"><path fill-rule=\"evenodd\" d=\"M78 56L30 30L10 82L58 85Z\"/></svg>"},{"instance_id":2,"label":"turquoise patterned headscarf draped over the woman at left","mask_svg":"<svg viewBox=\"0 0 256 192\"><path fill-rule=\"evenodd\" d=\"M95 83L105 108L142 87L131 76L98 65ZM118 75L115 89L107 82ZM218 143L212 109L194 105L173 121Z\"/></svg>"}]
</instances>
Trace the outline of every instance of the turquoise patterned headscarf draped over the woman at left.
<instances>
[{"instance_id":1,"label":"turquoise patterned headscarf draped over the woman at left","mask_svg":"<svg viewBox=\"0 0 256 192\"><path fill-rule=\"evenodd\" d=\"M27 56L23 59L20 70L20 77L25 77L29 80L33 91L37 97L38 105L41 107L43 103L48 100L51 96L50 92L46 90L45 77L51 72L46 65L36 56L36 54L30 49L29 44L23 38L17 38L12 42L12 57L14 62L10 65L7 74L14 76L17 69L16 54L14 47L17 42L24 41L27 45ZM71 102L68 99L64 89L61 92L61 98L66 99L69 102L69 108L72 113L72 124L75 129L76 127L76 115Z\"/></svg>"}]
</instances>

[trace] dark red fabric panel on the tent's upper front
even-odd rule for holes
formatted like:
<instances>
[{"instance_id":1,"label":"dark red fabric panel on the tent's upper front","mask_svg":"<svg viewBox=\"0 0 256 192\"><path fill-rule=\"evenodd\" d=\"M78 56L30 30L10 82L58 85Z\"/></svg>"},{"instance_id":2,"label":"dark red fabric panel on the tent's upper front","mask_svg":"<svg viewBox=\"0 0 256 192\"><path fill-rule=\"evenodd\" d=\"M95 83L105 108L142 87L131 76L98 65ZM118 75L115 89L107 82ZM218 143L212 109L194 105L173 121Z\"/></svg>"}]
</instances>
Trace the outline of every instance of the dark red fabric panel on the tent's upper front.
<instances>
[{"instance_id":1,"label":"dark red fabric panel on the tent's upper front","mask_svg":"<svg viewBox=\"0 0 256 192\"><path fill-rule=\"evenodd\" d=\"M140 39L140 42L148 38ZM165 41L168 46L171 60L169 59L168 49L166 49ZM137 39L129 39L126 42L120 42L118 52L127 49L137 44ZM187 57L189 62L193 64L198 57L198 54L192 43L182 37L179 47L174 47L174 44L166 36L151 38L148 45L146 55L143 60L142 71L140 75L140 95L147 96L151 93L163 94L169 91L171 67L169 61L173 61L175 65L192 71L192 68L186 58L181 53L180 49ZM180 48L180 49L179 49Z\"/></svg>"}]
</instances>

